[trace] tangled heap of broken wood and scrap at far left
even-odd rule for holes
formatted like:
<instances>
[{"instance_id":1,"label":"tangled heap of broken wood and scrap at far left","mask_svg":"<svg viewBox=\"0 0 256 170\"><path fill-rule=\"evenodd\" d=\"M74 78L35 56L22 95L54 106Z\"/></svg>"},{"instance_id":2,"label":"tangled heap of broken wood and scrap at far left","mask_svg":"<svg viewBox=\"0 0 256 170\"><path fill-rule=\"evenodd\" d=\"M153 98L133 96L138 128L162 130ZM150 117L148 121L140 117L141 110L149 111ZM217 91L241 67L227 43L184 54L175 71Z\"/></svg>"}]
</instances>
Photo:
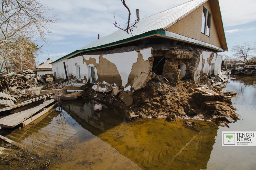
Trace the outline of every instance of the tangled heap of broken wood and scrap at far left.
<instances>
[{"instance_id":1,"label":"tangled heap of broken wood and scrap at far left","mask_svg":"<svg viewBox=\"0 0 256 170\"><path fill-rule=\"evenodd\" d=\"M36 87L42 79L31 70L0 75L0 105L12 106L16 99L25 96L25 89Z\"/></svg>"}]
</instances>

